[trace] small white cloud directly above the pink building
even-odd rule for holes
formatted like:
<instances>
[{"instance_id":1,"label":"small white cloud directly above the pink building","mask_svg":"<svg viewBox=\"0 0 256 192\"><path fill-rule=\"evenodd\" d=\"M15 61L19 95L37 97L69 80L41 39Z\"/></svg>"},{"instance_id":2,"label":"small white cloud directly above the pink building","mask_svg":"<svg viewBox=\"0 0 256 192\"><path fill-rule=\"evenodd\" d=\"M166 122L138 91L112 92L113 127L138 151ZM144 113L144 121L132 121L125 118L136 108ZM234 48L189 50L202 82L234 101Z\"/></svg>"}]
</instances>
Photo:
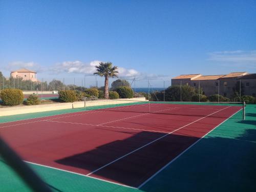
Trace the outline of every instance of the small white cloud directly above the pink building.
<instances>
[{"instance_id":1,"label":"small white cloud directly above the pink building","mask_svg":"<svg viewBox=\"0 0 256 192\"><path fill-rule=\"evenodd\" d=\"M21 68L26 68L26 69L30 69L30 70L34 70L36 72L42 72L42 67L33 61L30 62L23 62L23 61L14 61L14 62L10 62L7 66L6 66L6 70L8 71L13 71L13 70L18 70Z\"/></svg>"}]
</instances>

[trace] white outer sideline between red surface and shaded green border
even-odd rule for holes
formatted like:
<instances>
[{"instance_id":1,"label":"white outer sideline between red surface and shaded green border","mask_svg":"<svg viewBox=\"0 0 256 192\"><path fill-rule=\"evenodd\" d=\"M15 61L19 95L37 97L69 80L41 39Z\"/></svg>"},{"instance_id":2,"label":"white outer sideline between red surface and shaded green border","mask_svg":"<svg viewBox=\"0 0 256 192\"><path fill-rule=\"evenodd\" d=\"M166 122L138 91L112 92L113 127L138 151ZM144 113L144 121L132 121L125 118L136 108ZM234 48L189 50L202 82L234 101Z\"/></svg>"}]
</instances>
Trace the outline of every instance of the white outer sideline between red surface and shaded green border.
<instances>
[{"instance_id":1,"label":"white outer sideline between red surface and shaded green border","mask_svg":"<svg viewBox=\"0 0 256 192\"><path fill-rule=\"evenodd\" d=\"M233 115L236 115L238 112L240 112L242 109L240 109L239 111L237 111L236 113L234 113ZM231 115L230 117L232 117L233 115ZM226 120L224 120L223 122L221 122L220 124L218 124L216 127L214 127L214 129L212 129L211 131L209 131L208 133L206 133L203 137L201 137L199 140L197 140L196 142L194 142L193 144L191 144L190 146L188 146L182 153L180 153L177 157L175 157L173 160L171 160L170 162L168 162L166 165L164 165L162 168L160 168L153 176L151 176L150 178L148 178L146 181L144 181L142 184L140 184L137 188L141 188L143 185L145 185L148 181L150 181L151 179L153 179L156 175L158 175L163 169L165 169L168 165L170 165L171 163L173 163L176 159L178 159L181 155L183 155L186 151L189 150L189 148L193 147L195 144L197 144L201 139L203 139L206 135L208 135L210 132L214 131L218 126L220 126L222 123L224 123L225 121L227 121L230 117L228 117Z\"/></svg>"}]
</instances>

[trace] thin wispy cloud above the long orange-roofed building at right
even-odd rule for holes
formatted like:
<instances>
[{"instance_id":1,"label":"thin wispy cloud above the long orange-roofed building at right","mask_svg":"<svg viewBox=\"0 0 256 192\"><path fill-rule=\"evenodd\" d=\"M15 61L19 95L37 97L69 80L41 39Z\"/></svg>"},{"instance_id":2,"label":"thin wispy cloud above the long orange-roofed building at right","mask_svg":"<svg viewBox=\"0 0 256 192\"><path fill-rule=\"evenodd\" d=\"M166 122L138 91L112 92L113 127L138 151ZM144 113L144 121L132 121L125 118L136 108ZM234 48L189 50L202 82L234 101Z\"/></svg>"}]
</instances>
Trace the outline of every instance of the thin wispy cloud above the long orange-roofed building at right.
<instances>
[{"instance_id":1,"label":"thin wispy cloud above the long orange-roofed building at right","mask_svg":"<svg viewBox=\"0 0 256 192\"><path fill-rule=\"evenodd\" d=\"M239 63L255 63L256 65L256 50L252 51L216 51L209 53L208 60L225 61L225 62L239 62Z\"/></svg>"}]
</instances>

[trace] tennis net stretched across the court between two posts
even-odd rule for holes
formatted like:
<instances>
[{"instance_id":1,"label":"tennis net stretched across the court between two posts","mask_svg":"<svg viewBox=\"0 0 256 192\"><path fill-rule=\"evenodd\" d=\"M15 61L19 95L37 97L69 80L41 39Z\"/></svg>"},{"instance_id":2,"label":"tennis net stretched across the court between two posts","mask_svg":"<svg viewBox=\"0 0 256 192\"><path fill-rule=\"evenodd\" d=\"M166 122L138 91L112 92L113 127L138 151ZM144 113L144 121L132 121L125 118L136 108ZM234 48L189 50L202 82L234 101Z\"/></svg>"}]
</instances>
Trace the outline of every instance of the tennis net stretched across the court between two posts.
<instances>
[{"instance_id":1,"label":"tennis net stretched across the court between two posts","mask_svg":"<svg viewBox=\"0 0 256 192\"><path fill-rule=\"evenodd\" d=\"M138 98L136 98L138 99ZM155 113L185 116L205 116L210 112L222 110L227 106L238 110L245 106L243 102L175 102L175 101L148 101L134 99L99 99L85 98L84 109L113 112ZM223 114L224 115L224 114Z\"/></svg>"}]
</instances>

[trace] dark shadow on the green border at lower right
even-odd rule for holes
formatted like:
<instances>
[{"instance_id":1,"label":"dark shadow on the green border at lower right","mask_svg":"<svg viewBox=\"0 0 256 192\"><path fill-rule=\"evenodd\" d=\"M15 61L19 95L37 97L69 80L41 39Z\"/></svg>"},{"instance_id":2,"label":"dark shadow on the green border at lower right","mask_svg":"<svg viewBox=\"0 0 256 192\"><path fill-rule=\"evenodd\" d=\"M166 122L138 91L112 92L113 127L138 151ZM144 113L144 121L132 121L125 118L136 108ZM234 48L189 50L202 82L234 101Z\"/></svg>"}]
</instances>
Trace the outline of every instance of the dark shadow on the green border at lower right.
<instances>
[{"instance_id":1,"label":"dark shadow on the green border at lower right","mask_svg":"<svg viewBox=\"0 0 256 192\"><path fill-rule=\"evenodd\" d=\"M256 129L234 138L206 137L140 189L256 191L255 151Z\"/></svg>"}]
</instances>

